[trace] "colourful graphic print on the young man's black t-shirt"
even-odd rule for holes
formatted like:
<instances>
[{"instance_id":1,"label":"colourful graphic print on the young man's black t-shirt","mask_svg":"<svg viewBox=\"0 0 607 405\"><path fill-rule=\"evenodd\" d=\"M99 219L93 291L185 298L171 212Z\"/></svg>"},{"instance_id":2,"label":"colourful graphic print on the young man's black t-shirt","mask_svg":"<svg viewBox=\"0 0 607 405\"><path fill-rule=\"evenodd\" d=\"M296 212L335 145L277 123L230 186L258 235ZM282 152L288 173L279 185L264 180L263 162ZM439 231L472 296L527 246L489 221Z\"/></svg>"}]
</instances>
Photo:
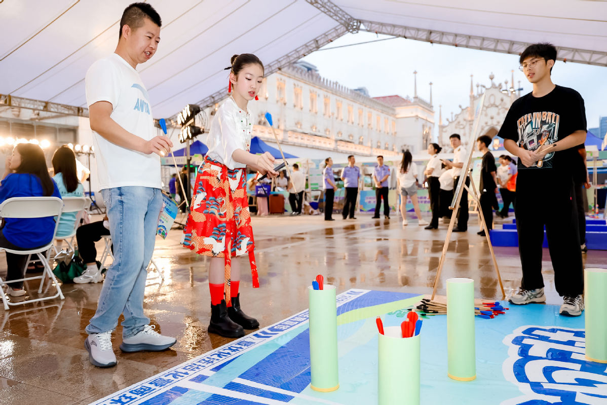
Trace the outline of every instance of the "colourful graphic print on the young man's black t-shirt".
<instances>
[{"instance_id":1,"label":"colourful graphic print on the young man's black t-shirt","mask_svg":"<svg viewBox=\"0 0 607 405\"><path fill-rule=\"evenodd\" d=\"M534 112L525 114L518 118L518 145L527 151L534 151L541 145L550 145L558 140L558 114L549 111ZM543 158L542 168L552 167L552 157L554 152L547 154ZM537 167L535 164L531 167Z\"/></svg>"}]
</instances>

